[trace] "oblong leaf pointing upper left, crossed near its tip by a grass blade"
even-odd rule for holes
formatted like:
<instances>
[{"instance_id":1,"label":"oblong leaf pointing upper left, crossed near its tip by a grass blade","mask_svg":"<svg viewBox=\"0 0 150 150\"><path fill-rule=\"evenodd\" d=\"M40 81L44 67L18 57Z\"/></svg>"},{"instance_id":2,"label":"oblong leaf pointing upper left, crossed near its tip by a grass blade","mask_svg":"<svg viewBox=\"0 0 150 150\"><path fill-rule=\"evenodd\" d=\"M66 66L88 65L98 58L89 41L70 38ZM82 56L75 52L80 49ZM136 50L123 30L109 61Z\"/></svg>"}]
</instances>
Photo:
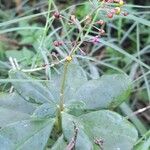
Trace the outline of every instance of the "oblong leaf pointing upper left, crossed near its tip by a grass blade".
<instances>
[{"instance_id":1,"label":"oblong leaf pointing upper left, crossed near its tip by a grass blade","mask_svg":"<svg viewBox=\"0 0 150 150\"><path fill-rule=\"evenodd\" d=\"M54 98L50 91L25 73L18 70L11 70L9 76L11 79L26 80L25 82L12 82L12 85L27 101L37 104L47 102L54 104Z\"/></svg>"}]
</instances>

